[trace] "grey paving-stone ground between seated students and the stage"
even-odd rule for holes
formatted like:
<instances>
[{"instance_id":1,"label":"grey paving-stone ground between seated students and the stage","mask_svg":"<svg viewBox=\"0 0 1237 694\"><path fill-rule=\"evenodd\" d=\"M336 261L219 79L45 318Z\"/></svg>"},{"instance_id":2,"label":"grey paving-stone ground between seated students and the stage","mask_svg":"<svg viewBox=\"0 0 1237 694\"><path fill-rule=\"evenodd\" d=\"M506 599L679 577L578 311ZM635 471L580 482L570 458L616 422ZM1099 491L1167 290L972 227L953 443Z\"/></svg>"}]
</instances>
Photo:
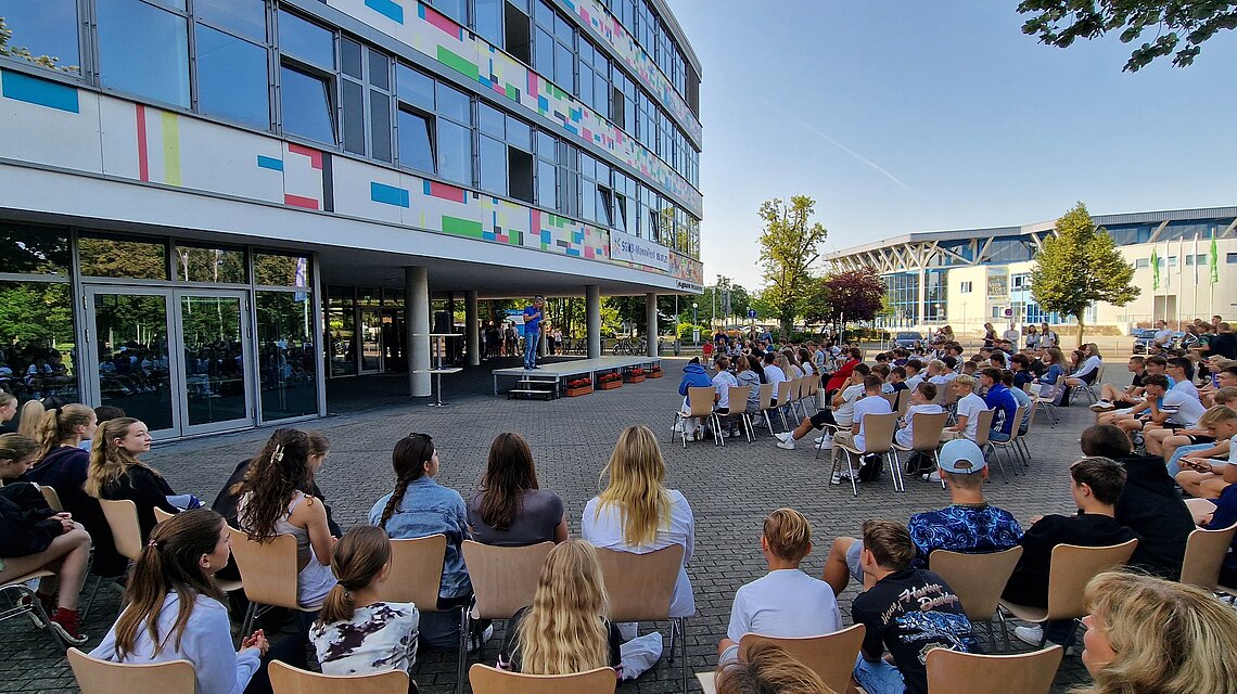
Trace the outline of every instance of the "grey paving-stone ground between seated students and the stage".
<instances>
[{"instance_id":1,"label":"grey paving-stone ground between seated students and the stage","mask_svg":"<svg viewBox=\"0 0 1237 694\"><path fill-rule=\"evenodd\" d=\"M808 516L815 550L803 568L820 575L835 537L856 534L866 518L905 521L914 512L944 506L948 495L939 485L919 480L908 480L907 492L897 494L886 475L878 484L862 485L858 497L852 497L849 486L829 485L826 463L815 460L810 447L781 450L763 429L757 429L753 443L727 439L725 448L711 442L689 442L687 449L680 443L669 443L684 361L667 359L664 379L584 397L507 401L476 395L477 388L461 388L455 392L466 395L449 398L449 407L432 408L423 401L413 401L302 427L317 428L330 438L332 453L318 481L345 528L365 522L372 503L391 490L395 481L391 448L408 432L434 437L442 460L438 481L468 496L476 487L495 434L516 431L532 445L542 487L563 497L573 536L579 534L585 502L597 492L599 475L617 434L630 424L652 427L662 440L668 484L683 491L695 515L696 546L688 573L699 614L688 625L688 669L704 670L716 664L716 645L725 636L735 590L766 570L760 533L769 511L792 506ZM1028 475L1011 474L1007 484L993 471L986 487L987 499L1008 508L1024 525L1039 513L1071 512L1066 468L1079 458L1079 433L1092 421L1092 413L1082 405L1061 412L1061 423L1055 428L1039 418L1029 438L1033 460ZM268 435L268 429L250 431L157 445L146 460L178 492L194 492L209 502L233 468L256 453ZM92 585L93 579L87 588ZM855 588L850 588L839 599L847 622L855 594ZM85 621L85 631L92 636L85 648L101 640L118 610L119 589L105 586ZM657 626L663 635L668 633L667 625ZM500 636L501 628L491 646L500 642ZM28 621L0 623L0 638L6 645L6 657L0 659L0 693L77 692L63 654ZM489 648L485 661L492 662L494 653L494 647ZM422 692L452 692L455 658L454 651L422 653L412 673ZM679 662L672 666L663 657L654 669L618 692L679 692L678 678ZM1066 657L1053 692L1068 692L1087 682L1081 661ZM694 678L690 690L700 690Z\"/></svg>"}]
</instances>

